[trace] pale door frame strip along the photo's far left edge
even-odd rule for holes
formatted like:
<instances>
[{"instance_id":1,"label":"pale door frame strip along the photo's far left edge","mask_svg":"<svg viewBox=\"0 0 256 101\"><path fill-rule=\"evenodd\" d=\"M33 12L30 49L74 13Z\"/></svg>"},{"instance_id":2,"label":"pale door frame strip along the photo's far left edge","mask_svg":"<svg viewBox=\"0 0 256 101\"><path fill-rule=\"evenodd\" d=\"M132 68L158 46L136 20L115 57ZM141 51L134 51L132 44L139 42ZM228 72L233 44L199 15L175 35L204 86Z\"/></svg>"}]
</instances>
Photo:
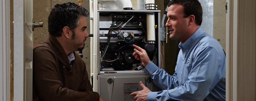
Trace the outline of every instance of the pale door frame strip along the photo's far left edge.
<instances>
[{"instance_id":1,"label":"pale door frame strip along the photo's far left edge","mask_svg":"<svg viewBox=\"0 0 256 101\"><path fill-rule=\"evenodd\" d=\"M0 1L0 101L10 101L10 1Z\"/></svg>"}]
</instances>

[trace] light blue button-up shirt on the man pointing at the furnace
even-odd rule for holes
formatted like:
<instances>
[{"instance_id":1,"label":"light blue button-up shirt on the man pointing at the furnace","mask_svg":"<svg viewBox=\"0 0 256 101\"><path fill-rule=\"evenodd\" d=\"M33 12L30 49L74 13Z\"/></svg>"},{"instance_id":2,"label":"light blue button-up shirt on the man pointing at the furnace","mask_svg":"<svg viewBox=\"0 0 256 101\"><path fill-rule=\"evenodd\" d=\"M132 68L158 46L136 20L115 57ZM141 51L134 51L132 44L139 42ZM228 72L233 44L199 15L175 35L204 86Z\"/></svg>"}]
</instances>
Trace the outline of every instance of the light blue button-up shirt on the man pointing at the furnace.
<instances>
[{"instance_id":1,"label":"light blue button-up shirt on the man pointing at the furnace","mask_svg":"<svg viewBox=\"0 0 256 101\"><path fill-rule=\"evenodd\" d=\"M175 73L171 77L153 62L146 67L160 92L149 92L148 101L225 101L226 53L200 27L185 43L179 43Z\"/></svg>"}]
</instances>

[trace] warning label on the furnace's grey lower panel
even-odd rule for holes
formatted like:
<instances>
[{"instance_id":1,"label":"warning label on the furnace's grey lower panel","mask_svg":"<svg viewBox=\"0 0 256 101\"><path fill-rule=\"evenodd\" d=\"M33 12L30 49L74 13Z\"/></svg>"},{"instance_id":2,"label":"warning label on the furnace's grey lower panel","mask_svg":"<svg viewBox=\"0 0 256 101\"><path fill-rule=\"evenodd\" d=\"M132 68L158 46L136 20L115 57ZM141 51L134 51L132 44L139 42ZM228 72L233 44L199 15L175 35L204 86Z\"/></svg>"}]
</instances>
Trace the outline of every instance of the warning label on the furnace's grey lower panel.
<instances>
[{"instance_id":1,"label":"warning label on the furnace's grey lower panel","mask_svg":"<svg viewBox=\"0 0 256 101\"><path fill-rule=\"evenodd\" d=\"M139 91L139 83L123 83L123 101L134 101L135 96L131 96L131 93L137 91Z\"/></svg>"}]
</instances>

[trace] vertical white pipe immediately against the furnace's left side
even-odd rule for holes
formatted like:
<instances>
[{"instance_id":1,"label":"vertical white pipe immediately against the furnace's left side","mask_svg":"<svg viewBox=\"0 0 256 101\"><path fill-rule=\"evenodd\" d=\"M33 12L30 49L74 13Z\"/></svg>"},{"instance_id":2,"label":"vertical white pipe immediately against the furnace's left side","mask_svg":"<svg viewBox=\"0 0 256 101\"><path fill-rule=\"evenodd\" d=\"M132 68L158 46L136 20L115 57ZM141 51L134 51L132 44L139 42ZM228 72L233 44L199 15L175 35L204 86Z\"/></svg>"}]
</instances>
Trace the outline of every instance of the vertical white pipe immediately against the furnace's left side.
<instances>
[{"instance_id":1,"label":"vertical white pipe immediately against the furnace's left side","mask_svg":"<svg viewBox=\"0 0 256 101\"><path fill-rule=\"evenodd\" d=\"M98 92L98 0L93 0L93 91Z\"/></svg>"}]
</instances>

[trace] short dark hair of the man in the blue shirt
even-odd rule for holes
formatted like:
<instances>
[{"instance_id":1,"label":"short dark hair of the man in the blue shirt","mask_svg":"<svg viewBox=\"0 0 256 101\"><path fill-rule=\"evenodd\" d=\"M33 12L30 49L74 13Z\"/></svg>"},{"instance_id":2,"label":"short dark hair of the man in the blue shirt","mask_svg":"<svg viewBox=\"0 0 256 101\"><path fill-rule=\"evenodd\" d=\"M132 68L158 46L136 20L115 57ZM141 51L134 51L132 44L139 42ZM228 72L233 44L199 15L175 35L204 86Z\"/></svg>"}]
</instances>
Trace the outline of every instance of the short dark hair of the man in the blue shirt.
<instances>
[{"instance_id":1,"label":"short dark hair of the man in the blue shirt","mask_svg":"<svg viewBox=\"0 0 256 101\"><path fill-rule=\"evenodd\" d=\"M187 18L190 15L194 15L196 24L202 24L203 9L198 0L171 0L168 4L168 7L170 7L172 4L181 4L184 7L184 18Z\"/></svg>"}]
</instances>

